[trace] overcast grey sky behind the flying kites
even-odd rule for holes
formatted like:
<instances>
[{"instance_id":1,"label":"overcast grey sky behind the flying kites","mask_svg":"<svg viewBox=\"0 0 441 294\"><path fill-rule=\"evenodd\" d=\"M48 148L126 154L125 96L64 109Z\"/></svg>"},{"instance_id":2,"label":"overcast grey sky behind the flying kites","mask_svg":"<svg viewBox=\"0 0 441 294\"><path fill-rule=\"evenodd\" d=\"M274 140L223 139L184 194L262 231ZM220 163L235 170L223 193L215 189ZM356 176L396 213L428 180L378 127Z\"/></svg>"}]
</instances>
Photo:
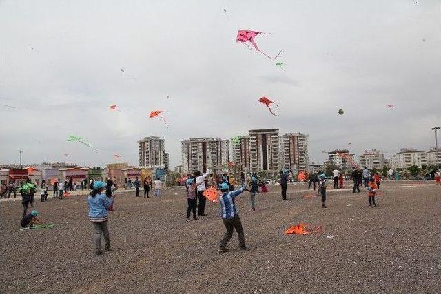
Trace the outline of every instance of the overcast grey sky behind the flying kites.
<instances>
[{"instance_id":1,"label":"overcast grey sky behind the flying kites","mask_svg":"<svg viewBox=\"0 0 441 294\"><path fill-rule=\"evenodd\" d=\"M0 0L0 40L0 163L138 165L137 141L160 136L174 167L181 140L258 128L309 134L310 162L390 158L441 126L439 0Z\"/></svg>"}]
</instances>

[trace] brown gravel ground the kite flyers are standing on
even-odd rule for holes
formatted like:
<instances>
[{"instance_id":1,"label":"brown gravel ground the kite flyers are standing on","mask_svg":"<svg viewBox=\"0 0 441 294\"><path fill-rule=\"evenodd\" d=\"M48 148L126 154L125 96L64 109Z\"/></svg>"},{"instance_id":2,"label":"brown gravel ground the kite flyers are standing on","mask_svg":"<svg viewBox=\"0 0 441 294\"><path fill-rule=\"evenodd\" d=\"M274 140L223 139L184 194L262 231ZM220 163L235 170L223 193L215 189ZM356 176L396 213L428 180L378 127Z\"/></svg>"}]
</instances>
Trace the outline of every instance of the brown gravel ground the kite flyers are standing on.
<instances>
[{"instance_id":1,"label":"brown gravel ground the kite flyers are standing on","mask_svg":"<svg viewBox=\"0 0 441 294\"><path fill-rule=\"evenodd\" d=\"M349 185L346 182L346 185ZM329 189L327 205L305 185L277 186L237 205L249 251L219 255L218 205L186 222L185 189L161 198L119 193L109 226L113 251L96 257L84 196L36 202L53 229L19 231L21 204L1 202L0 293L440 293L440 198L433 182L382 183L378 207L365 193ZM177 195L175 195L177 193ZM325 227L284 235L298 222ZM327 238L333 235L334 238Z\"/></svg>"}]
</instances>

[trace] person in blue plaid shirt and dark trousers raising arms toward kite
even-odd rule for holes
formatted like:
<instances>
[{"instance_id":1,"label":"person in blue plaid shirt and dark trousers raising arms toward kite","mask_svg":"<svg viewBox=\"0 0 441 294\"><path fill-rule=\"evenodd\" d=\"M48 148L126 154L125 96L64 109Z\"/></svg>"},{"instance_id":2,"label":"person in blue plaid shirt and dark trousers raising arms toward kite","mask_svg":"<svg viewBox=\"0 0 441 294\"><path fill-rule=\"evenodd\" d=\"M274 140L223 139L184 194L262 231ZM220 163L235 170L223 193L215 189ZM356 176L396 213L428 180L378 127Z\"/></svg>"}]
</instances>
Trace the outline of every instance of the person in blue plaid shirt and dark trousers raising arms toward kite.
<instances>
[{"instance_id":1,"label":"person in blue plaid shirt and dark trousers raising arms toward kite","mask_svg":"<svg viewBox=\"0 0 441 294\"><path fill-rule=\"evenodd\" d=\"M236 203L234 202L234 198L245 191L246 187L246 185L243 185L238 190L229 191L229 185L226 182L220 184L220 191L222 192L222 195L219 198L220 216L222 217L223 224L227 231L220 241L219 253L229 251L227 249L227 243L232 238L234 229L236 229L238 235L240 250L248 250L247 246L245 246L245 235L243 233L242 223L240 222L240 218L236 210Z\"/></svg>"}]
</instances>

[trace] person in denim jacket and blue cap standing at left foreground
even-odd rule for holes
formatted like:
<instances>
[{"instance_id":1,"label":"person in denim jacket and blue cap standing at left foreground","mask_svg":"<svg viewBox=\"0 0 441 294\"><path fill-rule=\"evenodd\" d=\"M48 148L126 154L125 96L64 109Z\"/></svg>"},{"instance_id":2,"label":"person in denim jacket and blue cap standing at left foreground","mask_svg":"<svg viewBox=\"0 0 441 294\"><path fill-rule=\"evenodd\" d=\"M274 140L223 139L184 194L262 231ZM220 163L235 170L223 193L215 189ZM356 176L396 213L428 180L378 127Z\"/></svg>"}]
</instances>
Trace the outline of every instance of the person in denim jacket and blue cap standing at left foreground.
<instances>
[{"instance_id":1,"label":"person in denim jacket and blue cap standing at left foreground","mask_svg":"<svg viewBox=\"0 0 441 294\"><path fill-rule=\"evenodd\" d=\"M101 236L104 237L105 251L110 251L110 238L107 217L109 215L108 209L112 207L115 196L112 193L110 198L107 197L103 191L105 190L105 184L101 180L94 182L94 189L88 196L89 204L89 220L94 226L94 241L95 241L95 254L103 254L103 248L101 245Z\"/></svg>"}]
</instances>

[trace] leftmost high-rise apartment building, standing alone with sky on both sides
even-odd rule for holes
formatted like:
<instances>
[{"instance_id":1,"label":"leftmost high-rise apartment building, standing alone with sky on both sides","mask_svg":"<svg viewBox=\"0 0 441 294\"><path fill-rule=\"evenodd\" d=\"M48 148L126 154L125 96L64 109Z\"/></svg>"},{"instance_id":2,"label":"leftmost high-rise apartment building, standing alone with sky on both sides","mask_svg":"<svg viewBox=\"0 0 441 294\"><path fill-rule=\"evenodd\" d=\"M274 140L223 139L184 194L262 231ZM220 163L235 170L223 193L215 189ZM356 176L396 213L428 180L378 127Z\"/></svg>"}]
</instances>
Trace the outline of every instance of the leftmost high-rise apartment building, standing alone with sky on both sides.
<instances>
[{"instance_id":1,"label":"leftmost high-rise apartment building, standing alone with sky on both sides","mask_svg":"<svg viewBox=\"0 0 441 294\"><path fill-rule=\"evenodd\" d=\"M168 168L168 154L165 153L164 139L150 136L138 141L138 158L140 167ZM167 166L166 166L167 163Z\"/></svg>"}]
</instances>

